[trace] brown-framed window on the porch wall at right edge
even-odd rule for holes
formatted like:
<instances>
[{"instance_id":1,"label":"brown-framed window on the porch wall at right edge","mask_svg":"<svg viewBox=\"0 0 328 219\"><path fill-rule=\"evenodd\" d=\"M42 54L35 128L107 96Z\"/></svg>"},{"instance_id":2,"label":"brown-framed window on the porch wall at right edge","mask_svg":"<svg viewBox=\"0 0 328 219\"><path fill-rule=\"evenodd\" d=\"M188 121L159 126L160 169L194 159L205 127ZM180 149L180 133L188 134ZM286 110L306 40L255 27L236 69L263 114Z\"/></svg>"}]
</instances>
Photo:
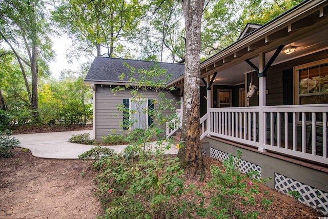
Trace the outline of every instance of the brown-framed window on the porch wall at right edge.
<instances>
[{"instance_id":1,"label":"brown-framed window on the porch wall at right edge","mask_svg":"<svg viewBox=\"0 0 328 219\"><path fill-rule=\"evenodd\" d=\"M328 59L294 67L295 104L328 103Z\"/></svg>"}]
</instances>

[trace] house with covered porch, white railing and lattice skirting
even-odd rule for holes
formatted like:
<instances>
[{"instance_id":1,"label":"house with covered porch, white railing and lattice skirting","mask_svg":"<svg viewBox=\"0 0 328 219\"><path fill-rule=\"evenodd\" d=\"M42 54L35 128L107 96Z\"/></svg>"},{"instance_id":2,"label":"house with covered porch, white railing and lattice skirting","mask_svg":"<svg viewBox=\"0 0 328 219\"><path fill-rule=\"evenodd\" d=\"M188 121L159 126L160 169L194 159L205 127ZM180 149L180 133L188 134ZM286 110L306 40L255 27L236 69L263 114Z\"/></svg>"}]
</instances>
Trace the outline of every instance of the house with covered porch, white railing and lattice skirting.
<instances>
[{"instance_id":1,"label":"house with covered porch, white railing and lattice skirting","mask_svg":"<svg viewBox=\"0 0 328 219\"><path fill-rule=\"evenodd\" d=\"M200 64L203 153L242 150L241 171L328 214L328 1L254 26ZM183 89L183 75L169 86Z\"/></svg>"}]
</instances>

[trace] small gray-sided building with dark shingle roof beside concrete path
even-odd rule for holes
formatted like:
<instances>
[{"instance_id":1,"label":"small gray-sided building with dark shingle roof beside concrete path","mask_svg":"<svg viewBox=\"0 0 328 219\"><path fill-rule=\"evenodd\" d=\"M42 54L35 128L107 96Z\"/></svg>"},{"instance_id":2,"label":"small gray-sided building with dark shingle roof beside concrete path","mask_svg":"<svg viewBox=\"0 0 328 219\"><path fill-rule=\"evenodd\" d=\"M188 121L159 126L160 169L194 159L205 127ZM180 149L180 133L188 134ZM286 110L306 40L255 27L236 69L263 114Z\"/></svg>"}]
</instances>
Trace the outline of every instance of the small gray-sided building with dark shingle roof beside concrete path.
<instances>
[{"instance_id":1,"label":"small gray-sided building with dark shingle roof beside concrete path","mask_svg":"<svg viewBox=\"0 0 328 219\"><path fill-rule=\"evenodd\" d=\"M120 113L116 105L124 104L130 109L134 109L137 104L131 100L129 92L119 92L116 95L111 91L116 86L126 86L129 84L130 67L135 69L134 78L138 78L138 69L151 69L158 66L159 69L165 69L167 74L171 74L171 80L181 76L185 71L185 65L172 63L157 63L148 61L137 61L122 58L110 57L95 57L94 61L88 71L84 80L85 83L92 84L93 89L93 136L100 141L102 136L108 134L119 134L122 131L120 124L126 119L125 115ZM124 78L119 76L124 73ZM160 78L159 78L160 79ZM147 100L143 101L143 107L151 107L151 99L155 98L156 92L154 90L147 91ZM175 102L180 101L179 90L170 91L166 95L167 98L176 99ZM176 109L180 108L180 104L175 105ZM172 113L169 110L163 114ZM150 118L143 114L138 118L138 123L134 124L130 129L141 128L142 125L148 125Z\"/></svg>"}]
</instances>

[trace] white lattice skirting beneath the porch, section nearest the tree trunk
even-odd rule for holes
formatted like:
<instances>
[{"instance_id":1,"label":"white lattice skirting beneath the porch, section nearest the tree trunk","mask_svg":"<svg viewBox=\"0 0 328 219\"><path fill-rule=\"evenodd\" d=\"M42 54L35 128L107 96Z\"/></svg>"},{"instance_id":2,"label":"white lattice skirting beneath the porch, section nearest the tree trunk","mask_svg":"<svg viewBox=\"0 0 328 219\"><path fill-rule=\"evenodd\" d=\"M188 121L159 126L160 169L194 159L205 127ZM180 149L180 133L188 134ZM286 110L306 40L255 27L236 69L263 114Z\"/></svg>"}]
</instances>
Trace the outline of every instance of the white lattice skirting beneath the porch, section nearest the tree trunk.
<instances>
[{"instance_id":1,"label":"white lattice skirting beneath the porch, section nearest the tree trunk","mask_svg":"<svg viewBox=\"0 0 328 219\"><path fill-rule=\"evenodd\" d=\"M214 148L210 148L210 157L223 162L224 160L227 160L229 158L229 154ZM237 157L234 156L234 160L236 162ZM242 173L249 173L251 170L255 170L259 173L259 178L262 177L262 168L260 166L257 166L256 164L252 164L251 162L241 160L239 164L239 169Z\"/></svg>"}]
</instances>

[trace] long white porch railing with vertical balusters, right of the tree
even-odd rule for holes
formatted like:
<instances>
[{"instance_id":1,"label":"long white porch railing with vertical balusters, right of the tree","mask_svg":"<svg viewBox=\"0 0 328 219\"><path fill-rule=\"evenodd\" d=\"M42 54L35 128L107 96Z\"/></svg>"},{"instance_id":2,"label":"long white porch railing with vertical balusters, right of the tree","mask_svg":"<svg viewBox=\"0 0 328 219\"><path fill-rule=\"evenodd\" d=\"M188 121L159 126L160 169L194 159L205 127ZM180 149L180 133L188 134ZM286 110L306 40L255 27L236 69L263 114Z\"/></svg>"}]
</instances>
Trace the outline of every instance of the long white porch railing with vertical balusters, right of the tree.
<instances>
[{"instance_id":1,"label":"long white porch railing with vertical balusters, right of the tree","mask_svg":"<svg viewBox=\"0 0 328 219\"><path fill-rule=\"evenodd\" d=\"M260 113L263 113L262 124L258 122ZM327 114L327 104L265 106L261 111L259 107L211 108L206 132L328 164Z\"/></svg>"}]
</instances>

